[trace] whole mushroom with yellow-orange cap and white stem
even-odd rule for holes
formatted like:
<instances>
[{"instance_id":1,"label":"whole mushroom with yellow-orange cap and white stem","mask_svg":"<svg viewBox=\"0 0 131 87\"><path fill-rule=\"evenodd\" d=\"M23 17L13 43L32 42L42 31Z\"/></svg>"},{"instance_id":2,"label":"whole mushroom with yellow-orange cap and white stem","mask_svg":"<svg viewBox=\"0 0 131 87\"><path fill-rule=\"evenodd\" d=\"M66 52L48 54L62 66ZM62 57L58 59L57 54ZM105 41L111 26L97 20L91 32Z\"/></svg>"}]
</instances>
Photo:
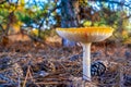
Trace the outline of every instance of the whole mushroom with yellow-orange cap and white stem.
<instances>
[{"instance_id":1,"label":"whole mushroom with yellow-orange cap and white stem","mask_svg":"<svg viewBox=\"0 0 131 87\"><path fill-rule=\"evenodd\" d=\"M91 80L91 44L103 41L112 35L111 27L57 28L58 35L83 47L83 79Z\"/></svg>"}]
</instances>

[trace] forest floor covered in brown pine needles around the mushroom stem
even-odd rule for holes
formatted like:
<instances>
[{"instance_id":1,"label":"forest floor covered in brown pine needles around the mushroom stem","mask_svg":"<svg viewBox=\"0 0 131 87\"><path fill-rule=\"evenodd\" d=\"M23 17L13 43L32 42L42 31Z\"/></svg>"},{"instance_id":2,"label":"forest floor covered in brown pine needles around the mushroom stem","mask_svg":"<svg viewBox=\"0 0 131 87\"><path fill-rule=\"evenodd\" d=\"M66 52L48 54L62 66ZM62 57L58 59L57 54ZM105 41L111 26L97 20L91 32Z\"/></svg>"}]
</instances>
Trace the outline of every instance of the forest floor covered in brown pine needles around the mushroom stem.
<instances>
[{"instance_id":1,"label":"forest floor covered in brown pine needles around the mushroom stem","mask_svg":"<svg viewBox=\"0 0 131 87\"><path fill-rule=\"evenodd\" d=\"M0 46L0 87L131 87L131 47L92 45L106 72L82 80L82 47L14 42Z\"/></svg>"}]
</instances>

